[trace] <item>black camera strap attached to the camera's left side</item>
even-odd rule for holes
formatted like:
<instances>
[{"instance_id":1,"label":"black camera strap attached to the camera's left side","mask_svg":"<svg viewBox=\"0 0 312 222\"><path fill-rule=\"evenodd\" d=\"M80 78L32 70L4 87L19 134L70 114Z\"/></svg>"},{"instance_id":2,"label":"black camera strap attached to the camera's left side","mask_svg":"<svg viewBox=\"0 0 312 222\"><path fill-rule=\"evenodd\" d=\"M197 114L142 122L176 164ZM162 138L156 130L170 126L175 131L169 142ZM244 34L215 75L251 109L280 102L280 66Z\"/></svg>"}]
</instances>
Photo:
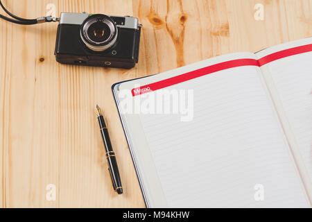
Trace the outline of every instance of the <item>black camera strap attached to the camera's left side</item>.
<instances>
[{"instance_id":1,"label":"black camera strap attached to the camera's left side","mask_svg":"<svg viewBox=\"0 0 312 222\"><path fill-rule=\"evenodd\" d=\"M46 17L39 17L37 19L24 19L21 17L17 17L16 15L13 15L11 12L9 12L2 4L1 0L0 0L0 6L1 8L3 8L3 10L10 15L10 17L6 17L4 15L0 14L0 18L4 19L8 22L12 22L15 24L20 24L20 25L34 25L34 24L38 24L38 23L43 23L43 22L58 22L58 18L56 17L52 17L52 16L46 16Z\"/></svg>"}]
</instances>

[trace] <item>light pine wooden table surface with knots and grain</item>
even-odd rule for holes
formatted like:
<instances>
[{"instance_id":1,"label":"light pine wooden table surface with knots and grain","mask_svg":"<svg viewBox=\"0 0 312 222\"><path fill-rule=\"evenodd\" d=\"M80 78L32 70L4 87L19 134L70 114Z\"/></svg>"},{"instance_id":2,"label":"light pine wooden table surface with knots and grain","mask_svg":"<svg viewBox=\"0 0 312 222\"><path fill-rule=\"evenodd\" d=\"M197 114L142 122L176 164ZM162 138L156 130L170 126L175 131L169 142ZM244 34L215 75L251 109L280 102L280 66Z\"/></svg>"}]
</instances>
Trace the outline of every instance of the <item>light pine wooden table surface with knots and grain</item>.
<instances>
[{"instance_id":1,"label":"light pine wooden table surface with knots and grain","mask_svg":"<svg viewBox=\"0 0 312 222\"><path fill-rule=\"evenodd\" d=\"M111 85L312 33L309 0L3 0L28 18L51 12L49 3L56 15L139 17L139 64L130 70L60 65L53 55L58 24L0 20L0 207L144 207ZM254 19L257 3L263 21ZM123 195L112 191L96 103L110 127ZM49 184L55 185L52 201Z\"/></svg>"}]
</instances>

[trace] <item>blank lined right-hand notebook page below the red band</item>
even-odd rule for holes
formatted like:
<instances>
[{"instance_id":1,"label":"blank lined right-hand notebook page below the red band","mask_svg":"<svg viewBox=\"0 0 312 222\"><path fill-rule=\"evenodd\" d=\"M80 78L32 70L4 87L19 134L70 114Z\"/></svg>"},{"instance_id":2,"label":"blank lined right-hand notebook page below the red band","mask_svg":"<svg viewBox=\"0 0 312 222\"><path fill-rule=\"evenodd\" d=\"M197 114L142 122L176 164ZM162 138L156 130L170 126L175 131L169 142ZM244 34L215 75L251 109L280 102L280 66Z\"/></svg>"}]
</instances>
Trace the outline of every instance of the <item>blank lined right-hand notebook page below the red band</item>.
<instances>
[{"instance_id":1,"label":"blank lined right-hand notebook page below the red band","mask_svg":"<svg viewBox=\"0 0 312 222\"><path fill-rule=\"evenodd\" d=\"M312 182L312 52L275 60L266 69Z\"/></svg>"}]
</instances>

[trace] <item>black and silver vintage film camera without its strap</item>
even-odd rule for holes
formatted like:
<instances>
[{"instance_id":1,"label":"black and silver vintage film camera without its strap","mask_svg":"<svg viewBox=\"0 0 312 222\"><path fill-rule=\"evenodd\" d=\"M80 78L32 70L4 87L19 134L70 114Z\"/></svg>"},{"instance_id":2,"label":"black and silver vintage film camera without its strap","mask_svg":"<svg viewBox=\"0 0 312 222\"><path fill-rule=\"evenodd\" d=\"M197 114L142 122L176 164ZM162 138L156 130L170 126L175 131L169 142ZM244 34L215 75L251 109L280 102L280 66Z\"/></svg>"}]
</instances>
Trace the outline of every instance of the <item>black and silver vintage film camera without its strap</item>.
<instances>
[{"instance_id":1,"label":"black and silver vintage film camera without its strap","mask_svg":"<svg viewBox=\"0 0 312 222\"><path fill-rule=\"evenodd\" d=\"M63 64L130 69L139 60L140 35L135 17L62 12L55 58Z\"/></svg>"}]
</instances>

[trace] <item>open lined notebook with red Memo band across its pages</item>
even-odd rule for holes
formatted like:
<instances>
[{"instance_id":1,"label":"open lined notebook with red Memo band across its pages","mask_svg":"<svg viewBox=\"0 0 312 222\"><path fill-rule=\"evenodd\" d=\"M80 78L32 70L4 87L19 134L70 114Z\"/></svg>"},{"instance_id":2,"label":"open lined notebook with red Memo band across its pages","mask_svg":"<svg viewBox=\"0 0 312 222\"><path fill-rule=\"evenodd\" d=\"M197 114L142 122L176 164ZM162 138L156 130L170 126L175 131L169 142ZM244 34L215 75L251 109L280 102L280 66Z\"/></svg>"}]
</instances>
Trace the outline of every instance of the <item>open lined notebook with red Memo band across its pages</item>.
<instances>
[{"instance_id":1,"label":"open lined notebook with red Memo band across its pages","mask_svg":"<svg viewBox=\"0 0 312 222\"><path fill-rule=\"evenodd\" d=\"M312 37L112 89L147 207L311 207Z\"/></svg>"}]
</instances>

